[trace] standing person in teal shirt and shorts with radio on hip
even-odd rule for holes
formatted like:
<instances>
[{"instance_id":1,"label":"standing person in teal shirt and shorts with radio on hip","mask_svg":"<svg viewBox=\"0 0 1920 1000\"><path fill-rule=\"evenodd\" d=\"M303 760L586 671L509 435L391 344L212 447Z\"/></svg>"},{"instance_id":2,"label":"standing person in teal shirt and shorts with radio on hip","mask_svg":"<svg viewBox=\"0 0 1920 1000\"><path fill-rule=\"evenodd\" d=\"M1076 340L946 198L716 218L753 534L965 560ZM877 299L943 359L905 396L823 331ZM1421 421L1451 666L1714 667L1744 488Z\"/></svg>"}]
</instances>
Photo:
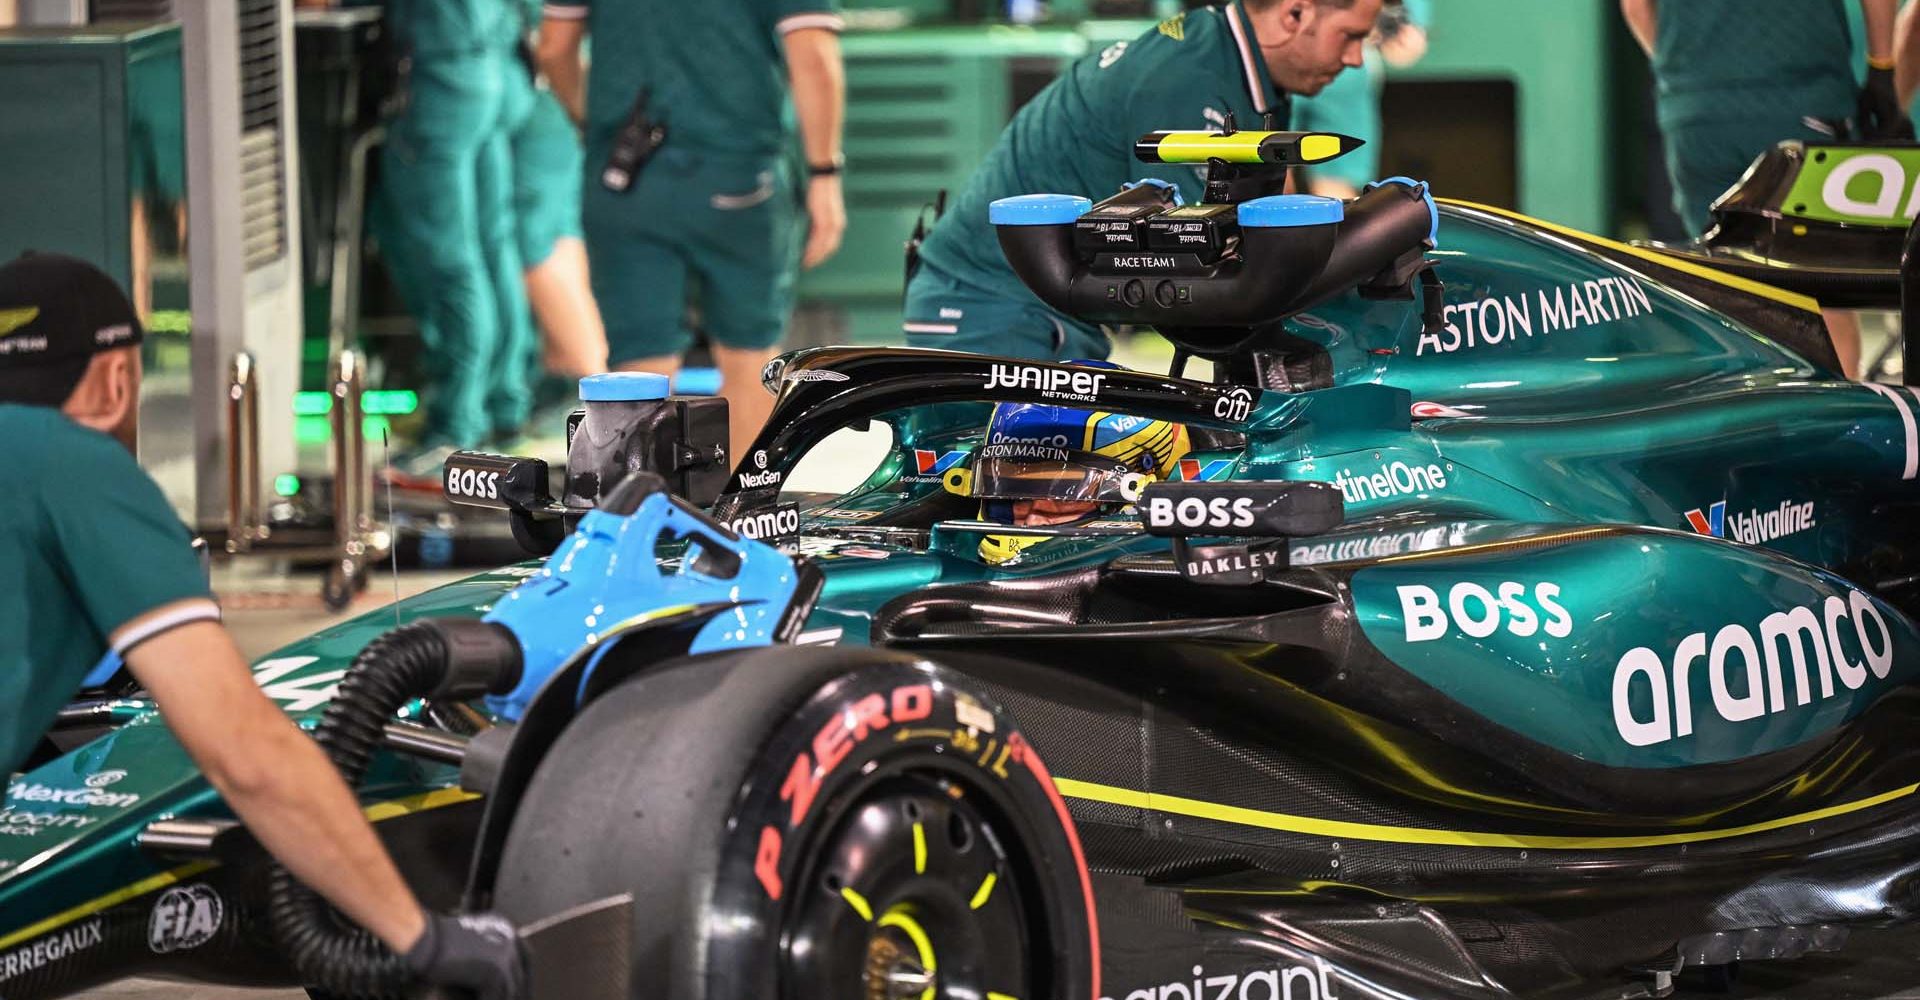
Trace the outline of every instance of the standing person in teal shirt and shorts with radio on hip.
<instances>
[{"instance_id":1,"label":"standing person in teal shirt and shorts with radio on hip","mask_svg":"<svg viewBox=\"0 0 1920 1000\"><path fill-rule=\"evenodd\" d=\"M841 202L837 0L547 0L540 65L586 123L588 263L614 369L674 374L701 307L733 451L766 422L760 370L785 334L797 271L828 259ZM582 79L580 44L593 38ZM789 84L806 157L789 163ZM643 104L643 107L641 107ZM643 115L653 142L620 136ZM614 155L632 169L609 171ZM651 157L649 157L651 154ZM804 205L804 215L801 209ZM804 238L804 250L803 250Z\"/></svg>"}]
</instances>

